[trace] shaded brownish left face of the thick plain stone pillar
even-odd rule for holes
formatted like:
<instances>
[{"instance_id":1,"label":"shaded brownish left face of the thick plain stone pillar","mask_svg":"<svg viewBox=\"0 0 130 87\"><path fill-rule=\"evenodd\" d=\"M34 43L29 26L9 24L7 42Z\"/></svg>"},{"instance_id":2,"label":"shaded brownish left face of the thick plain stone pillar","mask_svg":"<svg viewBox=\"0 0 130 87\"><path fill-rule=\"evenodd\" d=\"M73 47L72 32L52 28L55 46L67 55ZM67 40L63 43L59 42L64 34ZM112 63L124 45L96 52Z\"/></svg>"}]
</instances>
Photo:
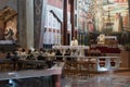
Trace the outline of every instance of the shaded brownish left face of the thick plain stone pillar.
<instances>
[{"instance_id":1,"label":"shaded brownish left face of the thick plain stone pillar","mask_svg":"<svg viewBox=\"0 0 130 87\"><path fill-rule=\"evenodd\" d=\"M17 1L17 44L26 47L26 0Z\"/></svg>"}]
</instances>

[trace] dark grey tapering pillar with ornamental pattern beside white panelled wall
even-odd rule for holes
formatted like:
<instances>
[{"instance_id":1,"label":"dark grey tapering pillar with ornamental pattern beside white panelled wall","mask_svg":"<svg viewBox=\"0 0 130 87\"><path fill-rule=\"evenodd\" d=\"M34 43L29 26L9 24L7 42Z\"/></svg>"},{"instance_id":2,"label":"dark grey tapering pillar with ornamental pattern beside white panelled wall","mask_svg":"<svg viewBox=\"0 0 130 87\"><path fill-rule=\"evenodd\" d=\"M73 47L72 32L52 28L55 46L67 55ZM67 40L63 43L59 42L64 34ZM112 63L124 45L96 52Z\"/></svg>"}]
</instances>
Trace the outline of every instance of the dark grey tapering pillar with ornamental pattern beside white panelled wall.
<instances>
[{"instance_id":1,"label":"dark grey tapering pillar with ornamental pattern beside white panelled wall","mask_svg":"<svg viewBox=\"0 0 130 87\"><path fill-rule=\"evenodd\" d=\"M34 38L35 48L39 48L41 34L42 4L44 0L34 0Z\"/></svg>"}]
</instances>

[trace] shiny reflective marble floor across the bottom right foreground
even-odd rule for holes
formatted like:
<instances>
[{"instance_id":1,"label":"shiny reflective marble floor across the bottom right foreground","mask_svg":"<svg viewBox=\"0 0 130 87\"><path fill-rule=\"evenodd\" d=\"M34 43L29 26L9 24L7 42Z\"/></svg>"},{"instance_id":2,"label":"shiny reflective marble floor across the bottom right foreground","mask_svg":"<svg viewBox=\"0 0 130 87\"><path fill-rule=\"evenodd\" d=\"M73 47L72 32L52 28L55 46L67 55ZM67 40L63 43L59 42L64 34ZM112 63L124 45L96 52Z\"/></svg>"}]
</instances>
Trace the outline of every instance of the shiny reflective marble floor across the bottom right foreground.
<instances>
[{"instance_id":1,"label":"shiny reflective marble floor across the bottom right foreground","mask_svg":"<svg viewBox=\"0 0 130 87\"><path fill-rule=\"evenodd\" d=\"M62 87L130 87L130 72L100 74L90 78L64 78Z\"/></svg>"}]
</instances>

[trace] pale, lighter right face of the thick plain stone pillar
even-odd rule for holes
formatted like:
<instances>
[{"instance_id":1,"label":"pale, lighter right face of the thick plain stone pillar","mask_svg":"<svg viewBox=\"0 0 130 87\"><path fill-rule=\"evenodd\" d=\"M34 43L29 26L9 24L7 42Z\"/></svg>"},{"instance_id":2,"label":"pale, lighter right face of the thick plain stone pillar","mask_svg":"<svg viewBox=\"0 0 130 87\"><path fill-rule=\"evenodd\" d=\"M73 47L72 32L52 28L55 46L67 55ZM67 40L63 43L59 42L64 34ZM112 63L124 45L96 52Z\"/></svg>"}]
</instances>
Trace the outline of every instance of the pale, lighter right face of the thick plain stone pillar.
<instances>
[{"instance_id":1,"label":"pale, lighter right face of the thick plain stone pillar","mask_svg":"<svg viewBox=\"0 0 130 87\"><path fill-rule=\"evenodd\" d=\"M27 48L34 47L34 0L26 0Z\"/></svg>"}]
</instances>

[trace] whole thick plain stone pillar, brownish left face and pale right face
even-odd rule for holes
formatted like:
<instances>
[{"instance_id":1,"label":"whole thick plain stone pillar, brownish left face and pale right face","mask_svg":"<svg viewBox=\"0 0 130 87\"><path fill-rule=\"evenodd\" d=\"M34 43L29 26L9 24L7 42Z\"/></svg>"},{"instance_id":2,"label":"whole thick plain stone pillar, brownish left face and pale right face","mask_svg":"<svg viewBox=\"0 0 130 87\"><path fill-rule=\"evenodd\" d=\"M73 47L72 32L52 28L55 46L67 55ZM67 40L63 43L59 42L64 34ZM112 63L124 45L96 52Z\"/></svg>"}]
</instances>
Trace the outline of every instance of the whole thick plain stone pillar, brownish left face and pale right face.
<instances>
[{"instance_id":1,"label":"whole thick plain stone pillar, brownish left face and pale right face","mask_svg":"<svg viewBox=\"0 0 130 87\"><path fill-rule=\"evenodd\" d=\"M18 0L17 14L18 45L34 47L34 0Z\"/></svg>"}]
</instances>

